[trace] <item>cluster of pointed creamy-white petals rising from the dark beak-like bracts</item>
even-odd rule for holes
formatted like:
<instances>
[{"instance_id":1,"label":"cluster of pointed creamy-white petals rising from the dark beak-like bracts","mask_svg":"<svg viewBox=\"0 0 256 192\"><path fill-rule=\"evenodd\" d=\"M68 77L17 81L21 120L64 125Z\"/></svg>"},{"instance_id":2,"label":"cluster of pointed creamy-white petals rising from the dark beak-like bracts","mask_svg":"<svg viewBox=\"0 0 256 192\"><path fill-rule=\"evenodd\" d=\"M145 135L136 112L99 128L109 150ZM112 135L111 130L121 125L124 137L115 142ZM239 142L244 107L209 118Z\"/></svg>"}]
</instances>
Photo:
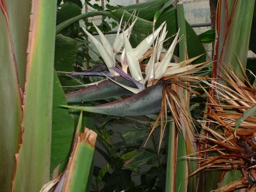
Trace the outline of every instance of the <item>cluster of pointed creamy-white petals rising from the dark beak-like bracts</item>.
<instances>
[{"instance_id":1,"label":"cluster of pointed creamy-white petals rising from the dark beak-like bracts","mask_svg":"<svg viewBox=\"0 0 256 192\"><path fill-rule=\"evenodd\" d=\"M147 86L152 86L156 80L161 79L162 77L185 72L186 70L196 67L195 65L188 65L189 62L170 63L173 56L173 51L175 49L175 45L178 42L179 31L175 35L175 38L168 50L166 50L163 58L161 59L161 61L159 61L161 52L163 51L163 43L168 32L166 31L166 22L161 24L159 28L157 28L152 34L148 35L147 38L141 41L140 44L133 49L131 43L129 42L129 36L131 35L131 31L135 22L136 19L134 19L131 26L125 29L122 34L120 33L121 25L119 25L118 32L116 33L116 38L112 46L111 44L109 44L106 36L104 36L102 31L100 31L100 29L97 28L95 24L93 25L99 33L100 42L88 31L86 31L86 29L84 29L85 33L88 35L92 43L99 51L100 56L102 56L102 59L106 63L109 72L111 72L113 76L120 75L118 74L118 72L116 72L116 70L113 70L113 67L115 67L116 65L116 54L118 54L124 47L120 57L122 70L125 74L127 74L127 69L129 68L131 77L141 83L142 88L129 88L123 84L117 82L115 83L120 84L120 86L123 86L131 92L138 93L145 88L145 84L147 84ZM143 77L139 60L143 58L144 54L152 46L154 47L154 51L150 56L147 67L145 68L145 77Z\"/></svg>"}]
</instances>

